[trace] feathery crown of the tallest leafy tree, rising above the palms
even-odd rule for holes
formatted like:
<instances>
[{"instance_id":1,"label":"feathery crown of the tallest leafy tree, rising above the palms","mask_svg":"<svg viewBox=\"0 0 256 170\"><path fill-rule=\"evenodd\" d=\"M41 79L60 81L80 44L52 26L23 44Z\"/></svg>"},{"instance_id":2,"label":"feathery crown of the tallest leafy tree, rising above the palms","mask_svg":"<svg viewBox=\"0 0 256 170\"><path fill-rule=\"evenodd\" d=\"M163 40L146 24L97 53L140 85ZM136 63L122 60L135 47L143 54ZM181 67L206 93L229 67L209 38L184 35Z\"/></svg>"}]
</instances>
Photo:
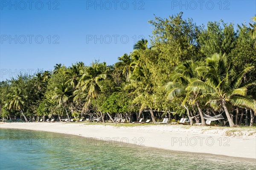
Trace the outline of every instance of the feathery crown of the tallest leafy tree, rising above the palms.
<instances>
[{"instance_id":1,"label":"feathery crown of the tallest leafy tree, rising above the palms","mask_svg":"<svg viewBox=\"0 0 256 170\"><path fill-rule=\"evenodd\" d=\"M151 44L160 51L160 59L172 65L198 53L199 28L192 19L183 20L182 12L168 19L155 17L149 23L154 27Z\"/></svg>"}]
</instances>

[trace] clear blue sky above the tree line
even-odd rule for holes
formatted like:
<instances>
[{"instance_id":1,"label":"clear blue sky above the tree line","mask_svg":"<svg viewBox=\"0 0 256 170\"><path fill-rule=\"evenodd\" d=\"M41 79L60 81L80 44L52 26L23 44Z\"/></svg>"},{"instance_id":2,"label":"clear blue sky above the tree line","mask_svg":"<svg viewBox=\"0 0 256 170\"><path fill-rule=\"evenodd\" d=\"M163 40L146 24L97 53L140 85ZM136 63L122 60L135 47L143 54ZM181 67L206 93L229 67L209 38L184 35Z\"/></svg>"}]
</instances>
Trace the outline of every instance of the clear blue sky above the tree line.
<instances>
[{"instance_id":1,"label":"clear blue sky above the tree line","mask_svg":"<svg viewBox=\"0 0 256 170\"><path fill-rule=\"evenodd\" d=\"M250 22L256 1L0 0L0 80L19 71L50 70L56 63L99 59L111 65L132 51L140 35L149 39L148 20L154 14L168 17L181 11L198 25L221 19L237 25Z\"/></svg>"}]
</instances>

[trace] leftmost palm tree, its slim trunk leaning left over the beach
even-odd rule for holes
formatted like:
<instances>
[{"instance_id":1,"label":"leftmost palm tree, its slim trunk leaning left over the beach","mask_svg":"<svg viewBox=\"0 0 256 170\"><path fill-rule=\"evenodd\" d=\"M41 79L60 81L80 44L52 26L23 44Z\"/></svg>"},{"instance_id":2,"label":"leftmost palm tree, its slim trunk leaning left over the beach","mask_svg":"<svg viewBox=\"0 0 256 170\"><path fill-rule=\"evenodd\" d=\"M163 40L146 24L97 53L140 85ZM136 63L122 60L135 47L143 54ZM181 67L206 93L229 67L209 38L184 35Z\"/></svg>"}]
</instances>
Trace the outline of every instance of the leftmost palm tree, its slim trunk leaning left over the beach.
<instances>
[{"instance_id":1,"label":"leftmost palm tree, its slim trunk leaning left over the beach","mask_svg":"<svg viewBox=\"0 0 256 170\"><path fill-rule=\"evenodd\" d=\"M9 103L6 104L6 107L20 111L25 121L28 122L26 116L23 113L27 96L23 95L22 89L12 89L12 92L8 94L8 97Z\"/></svg>"}]
</instances>

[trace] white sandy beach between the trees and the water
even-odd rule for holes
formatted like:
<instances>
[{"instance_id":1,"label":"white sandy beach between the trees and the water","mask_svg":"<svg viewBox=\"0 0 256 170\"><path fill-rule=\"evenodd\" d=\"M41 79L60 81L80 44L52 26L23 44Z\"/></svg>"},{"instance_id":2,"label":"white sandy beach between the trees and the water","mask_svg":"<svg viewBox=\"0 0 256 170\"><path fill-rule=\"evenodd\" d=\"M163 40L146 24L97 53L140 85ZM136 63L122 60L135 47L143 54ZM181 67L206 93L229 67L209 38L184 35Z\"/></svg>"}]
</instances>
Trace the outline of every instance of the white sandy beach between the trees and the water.
<instances>
[{"instance_id":1,"label":"white sandy beach between the trees and the water","mask_svg":"<svg viewBox=\"0 0 256 170\"><path fill-rule=\"evenodd\" d=\"M256 129L154 125L114 127L85 123L1 123L0 128L41 130L193 153L256 158ZM231 133L235 135L230 136ZM228 134L228 135L227 135ZM88 140L90 142L90 140Z\"/></svg>"}]
</instances>

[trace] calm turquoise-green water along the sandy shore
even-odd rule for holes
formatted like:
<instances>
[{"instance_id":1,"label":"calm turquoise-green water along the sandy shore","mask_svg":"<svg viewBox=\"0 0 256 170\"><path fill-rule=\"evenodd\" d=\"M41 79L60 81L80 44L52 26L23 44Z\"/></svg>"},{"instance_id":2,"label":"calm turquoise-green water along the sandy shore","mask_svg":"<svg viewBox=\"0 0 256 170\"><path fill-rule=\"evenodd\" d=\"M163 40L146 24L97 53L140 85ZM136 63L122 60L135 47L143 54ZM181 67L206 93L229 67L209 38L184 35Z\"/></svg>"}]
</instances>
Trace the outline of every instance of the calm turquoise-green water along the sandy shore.
<instances>
[{"instance_id":1,"label":"calm turquoise-green water along the sandy shore","mask_svg":"<svg viewBox=\"0 0 256 170\"><path fill-rule=\"evenodd\" d=\"M255 170L251 159L157 150L74 135L0 129L1 170Z\"/></svg>"}]
</instances>

